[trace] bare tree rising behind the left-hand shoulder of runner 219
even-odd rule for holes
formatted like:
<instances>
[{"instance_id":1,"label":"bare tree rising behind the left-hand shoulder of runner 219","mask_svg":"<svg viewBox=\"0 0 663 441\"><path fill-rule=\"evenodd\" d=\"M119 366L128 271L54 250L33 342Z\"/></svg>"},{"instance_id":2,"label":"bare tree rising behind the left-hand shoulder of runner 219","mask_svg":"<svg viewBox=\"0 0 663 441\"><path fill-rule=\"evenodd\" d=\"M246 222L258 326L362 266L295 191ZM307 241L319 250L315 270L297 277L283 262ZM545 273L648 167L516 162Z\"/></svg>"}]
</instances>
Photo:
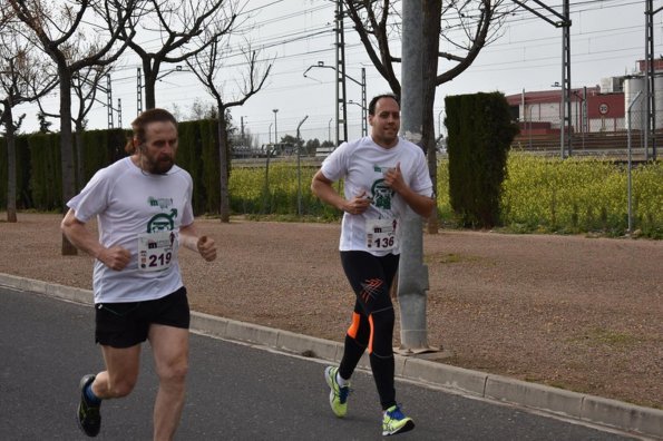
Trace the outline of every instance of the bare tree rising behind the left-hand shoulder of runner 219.
<instances>
[{"instance_id":1,"label":"bare tree rising behind the left-hand shoulder of runner 219","mask_svg":"<svg viewBox=\"0 0 663 441\"><path fill-rule=\"evenodd\" d=\"M128 36L125 43L118 47L120 29L124 29L142 0L7 1L16 17L31 30L26 37L41 47L57 67L65 204L76 193L71 147L72 77L86 67L108 66L120 56L128 39L133 37ZM108 29L95 24L99 16L108 24ZM76 247L62 235L62 255L75 254Z\"/></svg>"}]
</instances>

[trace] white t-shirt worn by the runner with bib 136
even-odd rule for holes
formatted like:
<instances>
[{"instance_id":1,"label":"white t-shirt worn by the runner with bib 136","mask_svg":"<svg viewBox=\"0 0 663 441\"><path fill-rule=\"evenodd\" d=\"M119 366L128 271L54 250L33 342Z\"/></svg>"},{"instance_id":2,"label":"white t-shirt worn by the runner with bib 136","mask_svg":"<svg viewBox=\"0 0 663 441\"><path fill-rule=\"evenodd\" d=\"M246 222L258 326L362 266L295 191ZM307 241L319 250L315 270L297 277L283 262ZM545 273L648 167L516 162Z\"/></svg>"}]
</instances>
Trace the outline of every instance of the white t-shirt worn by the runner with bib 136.
<instances>
[{"instance_id":1,"label":"white t-shirt worn by the runner with bib 136","mask_svg":"<svg viewBox=\"0 0 663 441\"><path fill-rule=\"evenodd\" d=\"M361 215L343 214L341 224L340 251L365 251L377 256L389 253L399 254L400 228L397 226L404 214L407 203L394 190L384 185L384 173L396 168L400 163L401 174L412 192L432 196L432 183L428 173L428 165L423 150L416 144L399 138L392 148L384 148L373 141L370 136L343 143L322 163L321 171L330 180L343 180L345 199L365 192L365 197L372 199L369 208ZM394 227L396 241L392 247L387 244L386 236L374 235L367 222L384 219L383 229ZM397 223L390 220L396 219Z\"/></svg>"}]
</instances>

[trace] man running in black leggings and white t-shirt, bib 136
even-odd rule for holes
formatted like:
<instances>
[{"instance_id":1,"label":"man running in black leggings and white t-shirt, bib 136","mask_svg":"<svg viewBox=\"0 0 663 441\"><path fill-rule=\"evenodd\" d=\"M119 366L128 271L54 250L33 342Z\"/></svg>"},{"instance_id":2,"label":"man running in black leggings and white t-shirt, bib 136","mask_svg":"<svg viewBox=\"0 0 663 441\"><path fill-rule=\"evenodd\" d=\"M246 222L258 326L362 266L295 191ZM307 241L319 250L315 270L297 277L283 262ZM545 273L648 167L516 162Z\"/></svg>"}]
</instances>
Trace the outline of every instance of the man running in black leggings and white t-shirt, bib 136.
<instances>
[{"instance_id":1,"label":"man running in black leggings and white t-shirt, bib 136","mask_svg":"<svg viewBox=\"0 0 663 441\"><path fill-rule=\"evenodd\" d=\"M344 212L341 264L357 296L345 334L341 364L324 371L333 413L348 411L350 376L365 350L383 410L382 435L415 428L396 402L393 304L389 296L400 255L400 220L409 206L428 217L435 208L433 189L423 150L398 137L400 105L393 95L369 104L371 135L344 143L322 163L311 189L323 202ZM332 184L343 179L343 196Z\"/></svg>"}]
</instances>

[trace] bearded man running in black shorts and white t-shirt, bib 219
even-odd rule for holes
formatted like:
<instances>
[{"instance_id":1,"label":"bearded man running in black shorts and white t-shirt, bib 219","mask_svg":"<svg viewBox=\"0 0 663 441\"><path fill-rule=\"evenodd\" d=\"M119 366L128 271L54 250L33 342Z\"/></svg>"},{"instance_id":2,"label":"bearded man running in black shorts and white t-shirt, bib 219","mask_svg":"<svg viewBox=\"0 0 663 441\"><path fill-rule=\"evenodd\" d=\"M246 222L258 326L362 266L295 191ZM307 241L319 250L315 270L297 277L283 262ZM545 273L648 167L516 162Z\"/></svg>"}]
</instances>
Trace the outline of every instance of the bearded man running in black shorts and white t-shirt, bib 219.
<instances>
[{"instance_id":1,"label":"bearded man running in black shorts and white t-shirt, bib 219","mask_svg":"<svg viewBox=\"0 0 663 441\"><path fill-rule=\"evenodd\" d=\"M172 440L188 369L189 307L177 253L189 248L211 262L216 246L194 226L193 180L175 165L175 117L152 109L131 127L130 156L97 171L67 203L61 224L69 241L96 258L95 340L106 364L80 381L78 424L88 437L99 433L101 400L131 392L142 343L149 340L159 379L154 439ZM98 237L86 226L95 216Z\"/></svg>"}]
</instances>

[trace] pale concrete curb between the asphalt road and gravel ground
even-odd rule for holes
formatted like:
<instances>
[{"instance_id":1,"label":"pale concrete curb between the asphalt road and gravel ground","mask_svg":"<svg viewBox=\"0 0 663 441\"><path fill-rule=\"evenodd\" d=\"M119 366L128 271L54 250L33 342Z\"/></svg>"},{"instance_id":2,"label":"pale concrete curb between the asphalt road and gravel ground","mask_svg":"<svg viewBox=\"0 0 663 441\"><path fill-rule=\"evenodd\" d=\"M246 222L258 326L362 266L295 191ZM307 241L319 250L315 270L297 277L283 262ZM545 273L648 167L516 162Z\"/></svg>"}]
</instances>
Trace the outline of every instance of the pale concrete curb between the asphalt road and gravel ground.
<instances>
[{"instance_id":1,"label":"pale concrete curb between the asphalt road and gravel ground","mask_svg":"<svg viewBox=\"0 0 663 441\"><path fill-rule=\"evenodd\" d=\"M91 305L92 293L0 273L0 285ZM295 334L209 314L192 312L194 332L279 351L339 362L341 343ZM370 369L364 355L361 367ZM538 411L601 424L637 435L663 440L663 411L616 400L571 392L506 376L470 371L415 357L396 355L400 378L441 386L451 392L516 404Z\"/></svg>"}]
</instances>

